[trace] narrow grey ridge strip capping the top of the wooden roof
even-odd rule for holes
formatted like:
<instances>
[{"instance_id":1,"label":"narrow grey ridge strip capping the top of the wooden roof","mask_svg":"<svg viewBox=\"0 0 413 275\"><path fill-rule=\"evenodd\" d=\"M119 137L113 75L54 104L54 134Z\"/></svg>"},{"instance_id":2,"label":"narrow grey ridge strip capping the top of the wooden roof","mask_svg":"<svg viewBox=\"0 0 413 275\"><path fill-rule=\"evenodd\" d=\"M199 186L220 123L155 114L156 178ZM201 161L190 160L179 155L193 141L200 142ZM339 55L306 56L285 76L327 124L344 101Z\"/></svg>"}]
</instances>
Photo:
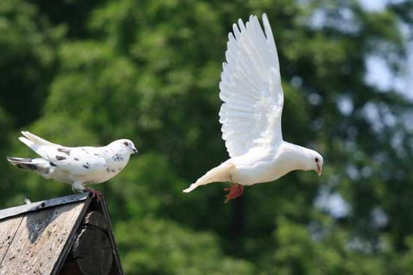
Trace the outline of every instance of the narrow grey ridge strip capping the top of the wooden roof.
<instances>
[{"instance_id":1,"label":"narrow grey ridge strip capping the top of the wooden roof","mask_svg":"<svg viewBox=\"0 0 413 275\"><path fill-rule=\"evenodd\" d=\"M0 210L0 220L6 219L8 217L17 216L18 214L22 214L29 211L41 210L44 208L59 206L65 203L72 203L75 201L84 201L85 199L87 199L87 197L89 197L89 193L85 192L81 194L59 197L56 199L48 199L47 201L37 201L34 203L25 204L23 206L7 208L4 210Z\"/></svg>"}]
</instances>

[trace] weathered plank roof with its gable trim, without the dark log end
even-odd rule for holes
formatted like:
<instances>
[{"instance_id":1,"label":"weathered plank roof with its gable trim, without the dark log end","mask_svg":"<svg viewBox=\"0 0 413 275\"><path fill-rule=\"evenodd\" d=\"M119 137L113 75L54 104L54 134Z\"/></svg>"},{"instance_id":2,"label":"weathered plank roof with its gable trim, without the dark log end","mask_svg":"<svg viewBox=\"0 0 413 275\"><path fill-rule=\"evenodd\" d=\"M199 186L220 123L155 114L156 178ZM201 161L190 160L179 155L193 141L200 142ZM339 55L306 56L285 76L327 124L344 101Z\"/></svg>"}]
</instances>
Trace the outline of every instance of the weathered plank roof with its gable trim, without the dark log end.
<instances>
[{"instance_id":1,"label":"weathered plank roof with its gable trim, without the dark log end","mask_svg":"<svg viewBox=\"0 0 413 275\"><path fill-rule=\"evenodd\" d=\"M114 252L106 274L123 274L105 198L92 201L83 193L0 210L0 275L60 274L91 210L107 223L103 234Z\"/></svg>"}]
</instances>

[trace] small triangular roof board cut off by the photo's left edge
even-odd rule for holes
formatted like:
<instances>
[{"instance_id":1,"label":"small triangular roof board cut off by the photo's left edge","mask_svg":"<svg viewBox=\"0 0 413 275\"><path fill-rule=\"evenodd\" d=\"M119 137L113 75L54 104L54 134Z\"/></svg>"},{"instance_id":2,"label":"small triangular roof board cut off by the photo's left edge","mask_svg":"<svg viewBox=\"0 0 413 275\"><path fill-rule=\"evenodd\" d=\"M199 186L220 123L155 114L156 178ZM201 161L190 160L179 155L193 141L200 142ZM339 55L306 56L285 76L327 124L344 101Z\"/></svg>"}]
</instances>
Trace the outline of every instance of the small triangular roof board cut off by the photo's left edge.
<instances>
[{"instance_id":1,"label":"small triangular roof board cut off by the photo's left edge","mask_svg":"<svg viewBox=\"0 0 413 275\"><path fill-rule=\"evenodd\" d=\"M12 244L14 235L19 229L22 220L23 217L14 217L0 221L0 270L1 263Z\"/></svg>"}]
</instances>

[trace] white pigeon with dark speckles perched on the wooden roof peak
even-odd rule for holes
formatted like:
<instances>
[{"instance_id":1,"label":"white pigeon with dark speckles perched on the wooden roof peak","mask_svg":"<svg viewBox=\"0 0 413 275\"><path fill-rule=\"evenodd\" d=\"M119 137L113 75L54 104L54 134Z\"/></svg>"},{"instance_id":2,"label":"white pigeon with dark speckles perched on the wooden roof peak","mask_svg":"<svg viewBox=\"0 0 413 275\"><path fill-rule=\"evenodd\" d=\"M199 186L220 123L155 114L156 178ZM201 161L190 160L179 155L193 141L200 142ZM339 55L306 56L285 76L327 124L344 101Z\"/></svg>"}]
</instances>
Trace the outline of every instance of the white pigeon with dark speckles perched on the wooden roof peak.
<instances>
[{"instance_id":1,"label":"white pigeon with dark speckles perched on the wooden roof peak","mask_svg":"<svg viewBox=\"0 0 413 275\"><path fill-rule=\"evenodd\" d=\"M116 140L103 147L66 147L30 132L21 133L25 137L19 137L19 140L41 157L7 157L11 164L34 170L46 179L72 184L74 192L92 192L92 197L99 192L85 188L85 184L100 184L112 179L125 168L130 155L138 153L130 140Z\"/></svg>"}]
</instances>

